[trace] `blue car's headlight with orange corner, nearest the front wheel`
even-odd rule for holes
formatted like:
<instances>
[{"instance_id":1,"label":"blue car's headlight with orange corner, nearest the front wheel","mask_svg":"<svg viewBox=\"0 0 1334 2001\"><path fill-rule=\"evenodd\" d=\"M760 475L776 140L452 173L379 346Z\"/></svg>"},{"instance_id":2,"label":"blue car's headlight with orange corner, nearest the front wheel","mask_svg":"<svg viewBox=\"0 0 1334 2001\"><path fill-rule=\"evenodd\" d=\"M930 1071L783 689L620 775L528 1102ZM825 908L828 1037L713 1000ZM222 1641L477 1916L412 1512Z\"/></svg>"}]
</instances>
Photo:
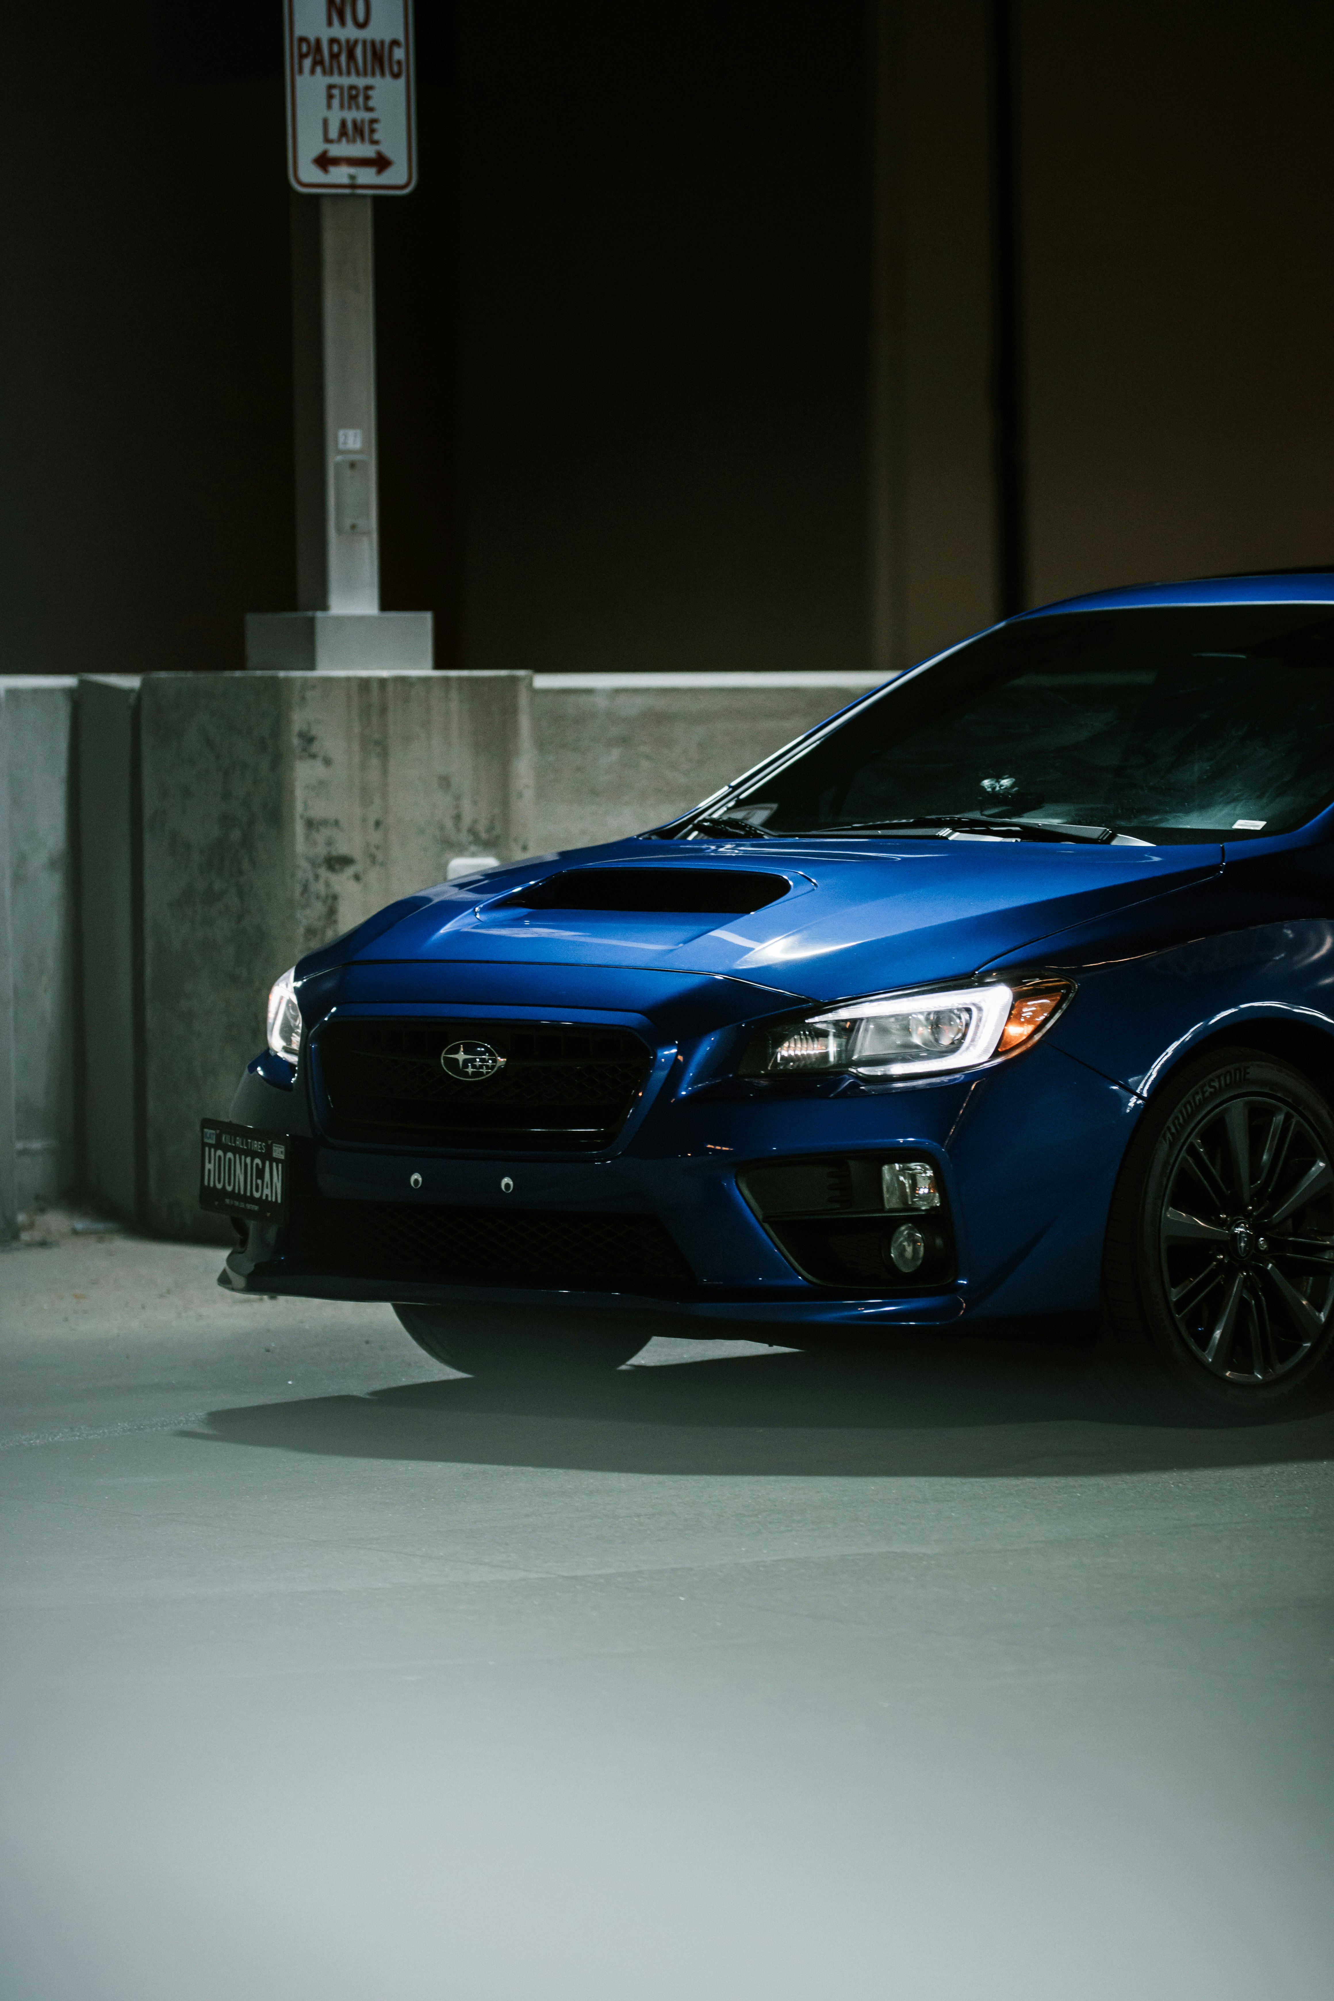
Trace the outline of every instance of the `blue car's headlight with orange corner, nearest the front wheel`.
<instances>
[{"instance_id":1,"label":"blue car's headlight with orange corner, nearest the front wheel","mask_svg":"<svg viewBox=\"0 0 1334 2001\"><path fill-rule=\"evenodd\" d=\"M952 986L940 992L878 994L760 1033L742 1073L796 1077L854 1071L858 1077L932 1077L1008 1057L1048 1029L1074 980Z\"/></svg>"}]
</instances>

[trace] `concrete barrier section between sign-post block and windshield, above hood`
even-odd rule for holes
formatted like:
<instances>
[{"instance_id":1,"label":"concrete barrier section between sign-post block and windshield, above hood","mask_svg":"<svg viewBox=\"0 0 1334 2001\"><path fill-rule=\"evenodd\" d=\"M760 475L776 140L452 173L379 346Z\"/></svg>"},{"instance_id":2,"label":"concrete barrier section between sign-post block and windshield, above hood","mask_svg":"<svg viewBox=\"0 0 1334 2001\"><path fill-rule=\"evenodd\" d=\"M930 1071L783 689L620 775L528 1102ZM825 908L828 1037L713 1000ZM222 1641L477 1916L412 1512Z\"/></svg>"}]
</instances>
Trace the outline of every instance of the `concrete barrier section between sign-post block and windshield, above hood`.
<instances>
[{"instance_id":1,"label":"concrete barrier section between sign-post block and windshield, above hood","mask_svg":"<svg viewBox=\"0 0 1334 2001\"><path fill-rule=\"evenodd\" d=\"M870 674L534 674L542 850L622 840L876 686Z\"/></svg>"}]
</instances>

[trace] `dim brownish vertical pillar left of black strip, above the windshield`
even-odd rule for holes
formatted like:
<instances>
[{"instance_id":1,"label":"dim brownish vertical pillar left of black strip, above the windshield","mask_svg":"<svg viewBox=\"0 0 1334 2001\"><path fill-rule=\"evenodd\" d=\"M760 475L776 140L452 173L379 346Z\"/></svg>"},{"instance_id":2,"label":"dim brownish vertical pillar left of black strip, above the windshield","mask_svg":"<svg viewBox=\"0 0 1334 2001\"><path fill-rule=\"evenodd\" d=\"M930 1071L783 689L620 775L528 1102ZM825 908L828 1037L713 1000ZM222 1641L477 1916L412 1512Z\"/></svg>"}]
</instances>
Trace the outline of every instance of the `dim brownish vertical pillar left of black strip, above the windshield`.
<instances>
[{"instance_id":1,"label":"dim brownish vertical pillar left of black strip, above the windshield","mask_svg":"<svg viewBox=\"0 0 1334 2001\"><path fill-rule=\"evenodd\" d=\"M984 0L876 0L870 656L1000 616Z\"/></svg>"}]
</instances>

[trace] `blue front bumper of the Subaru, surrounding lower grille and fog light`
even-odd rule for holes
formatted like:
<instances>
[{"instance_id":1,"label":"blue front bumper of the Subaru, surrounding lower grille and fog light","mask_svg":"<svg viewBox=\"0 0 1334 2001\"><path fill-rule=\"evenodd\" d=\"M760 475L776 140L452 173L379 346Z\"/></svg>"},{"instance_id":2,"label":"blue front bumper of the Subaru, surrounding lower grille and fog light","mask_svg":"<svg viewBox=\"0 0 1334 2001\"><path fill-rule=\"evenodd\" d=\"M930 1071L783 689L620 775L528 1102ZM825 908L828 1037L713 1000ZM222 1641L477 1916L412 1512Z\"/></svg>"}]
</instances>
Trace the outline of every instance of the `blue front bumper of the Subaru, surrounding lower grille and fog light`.
<instances>
[{"instance_id":1,"label":"blue front bumper of the Subaru, surrounding lower grille and fog light","mask_svg":"<svg viewBox=\"0 0 1334 2001\"><path fill-rule=\"evenodd\" d=\"M666 1081L664 1081L666 1085ZM572 1287L454 1285L320 1269L302 1231L252 1225L222 1283L238 1291L352 1301L494 1301L584 1311L642 1309L712 1323L788 1327L940 1327L962 1319L1088 1313L1096 1307L1106 1211L1138 1101L1094 1071L1038 1045L962 1079L832 1097L744 1095L670 1085L634 1123L624 1151L590 1159L464 1157L430 1149L330 1145L300 1085L278 1089L252 1065L232 1119L304 1139L304 1215L336 1223L344 1205L498 1211L552 1219L656 1217L694 1283L662 1293ZM910 1293L902 1281L816 1285L800 1275L748 1207L746 1165L822 1155L918 1153L946 1191L956 1277ZM414 1187L414 1181L418 1183ZM506 1187L508 1185L508 1187ZM364 1211L362 1211L364 1215ZM328 1237L326 1237L328 1241Z\"/></svg>"}]
</instances>

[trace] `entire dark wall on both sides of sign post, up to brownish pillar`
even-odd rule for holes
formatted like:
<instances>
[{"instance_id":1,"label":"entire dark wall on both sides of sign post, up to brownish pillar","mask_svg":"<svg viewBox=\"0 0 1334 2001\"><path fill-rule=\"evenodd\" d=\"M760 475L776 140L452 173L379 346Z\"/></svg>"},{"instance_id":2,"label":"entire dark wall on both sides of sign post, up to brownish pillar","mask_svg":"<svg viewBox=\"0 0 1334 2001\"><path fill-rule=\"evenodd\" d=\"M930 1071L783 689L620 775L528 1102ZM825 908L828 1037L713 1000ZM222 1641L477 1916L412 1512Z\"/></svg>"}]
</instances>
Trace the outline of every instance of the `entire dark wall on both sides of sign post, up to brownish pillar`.
<instances>
[{"instance_id":1,"label":"entire dark wall on both sides of sign post, up to brownish pillar","mask_svg":"<svg viewBox=\"0 0 1334 2001\"><path fill-rule=\"evenodd\" d=\"M296 602L278 26L22 24L24 74L78 62L26 92L6 222L10 672L236 668L244 612ZM862 40L818 0L420 0L382 586L436 664L860 660Z\"/></svg>"}]
</instances>

